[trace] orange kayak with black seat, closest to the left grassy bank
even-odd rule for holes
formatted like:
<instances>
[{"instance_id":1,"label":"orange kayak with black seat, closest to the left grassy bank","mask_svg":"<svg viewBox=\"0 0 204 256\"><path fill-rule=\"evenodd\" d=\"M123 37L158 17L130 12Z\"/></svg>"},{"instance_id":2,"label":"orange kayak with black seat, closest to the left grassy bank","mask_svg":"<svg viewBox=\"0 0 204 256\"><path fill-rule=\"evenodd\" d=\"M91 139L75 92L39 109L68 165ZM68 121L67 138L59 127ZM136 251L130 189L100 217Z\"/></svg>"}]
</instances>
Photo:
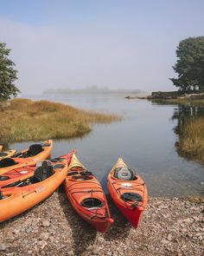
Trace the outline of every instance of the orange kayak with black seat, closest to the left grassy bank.
<instances>
[{"instance_id":1,"label":"orange kayak with black seat, closest to the left grassy bank","mask_svg":"<svg viewBox=\"0 0 204 256\"><path fill-rule=\"evenodd\" d=\"M33 166L37 161L47 159L52 152L53 141L43 141L41 144L31 145L28 149L14 154L11 158L0 161L0 175L7 173L14 167Z\"/></svg>"}]
</instances>

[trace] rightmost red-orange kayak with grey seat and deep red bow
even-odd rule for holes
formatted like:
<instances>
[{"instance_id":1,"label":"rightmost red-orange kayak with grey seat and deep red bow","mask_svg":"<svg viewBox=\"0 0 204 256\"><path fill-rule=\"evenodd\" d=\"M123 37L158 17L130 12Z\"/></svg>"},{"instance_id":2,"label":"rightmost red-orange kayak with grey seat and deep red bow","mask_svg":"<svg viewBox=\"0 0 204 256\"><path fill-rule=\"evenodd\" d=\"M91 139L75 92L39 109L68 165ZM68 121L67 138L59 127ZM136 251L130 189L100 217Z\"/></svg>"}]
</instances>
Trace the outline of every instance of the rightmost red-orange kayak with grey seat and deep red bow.
<instances>
[{"instance_id":1,"label":"rightmost red-orange kayak with grey seat and deep red bow","mask_svg":"<svg viewBox=\"0 0 204 256\"><path fill-rule=\"evenodd\" d=\"M108 175L107 188L120 212L137 228L148 200L143 179L119 158Z\"/></svg>"}]
</instances>

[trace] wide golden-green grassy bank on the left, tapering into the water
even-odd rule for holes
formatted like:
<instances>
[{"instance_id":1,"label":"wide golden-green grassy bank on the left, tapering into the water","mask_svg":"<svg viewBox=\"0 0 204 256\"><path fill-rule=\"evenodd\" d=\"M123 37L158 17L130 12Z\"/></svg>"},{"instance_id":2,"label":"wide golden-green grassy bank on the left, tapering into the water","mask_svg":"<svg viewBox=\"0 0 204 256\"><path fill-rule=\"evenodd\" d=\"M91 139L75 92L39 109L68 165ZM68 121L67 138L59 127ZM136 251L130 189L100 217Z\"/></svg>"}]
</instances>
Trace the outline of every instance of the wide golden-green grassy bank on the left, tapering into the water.
<instances>
[{"instance_id":1,"label":"wide golden-green grassy bank on the left, tapering into the water","mask_svg":"<svg viewBox=\"0 0 204 256\"><path fill-rule=\"evenodd\" d=\"M92 130L93 123L119 121L118 115L105 115L65 104L15 99L0 112L0 141L41 141L72 138Z\"/></svg>"}]
</instances>

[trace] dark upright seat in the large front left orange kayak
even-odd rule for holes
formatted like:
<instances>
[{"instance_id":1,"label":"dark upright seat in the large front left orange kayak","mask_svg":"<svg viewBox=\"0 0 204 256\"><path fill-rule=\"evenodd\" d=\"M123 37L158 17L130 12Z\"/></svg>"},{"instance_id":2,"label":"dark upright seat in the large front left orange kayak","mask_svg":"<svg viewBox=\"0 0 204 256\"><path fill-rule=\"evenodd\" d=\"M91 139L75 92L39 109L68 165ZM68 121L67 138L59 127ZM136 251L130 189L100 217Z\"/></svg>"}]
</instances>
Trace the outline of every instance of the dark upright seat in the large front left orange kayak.
<instances>
[{"instance_id":1,"label":"dark upright seat in the large front left orange kayak","mask_svg":"<svg viewBox=\"0 0 204 256\"><path fill-rule=\"evenodd\" d=\"M37 167L34 173L33 182L40 182L48 179L50 176L54 174L54 168L52 166L48 166L47 161L43 161L41 167Z\"/></svg>"}]
</instances>

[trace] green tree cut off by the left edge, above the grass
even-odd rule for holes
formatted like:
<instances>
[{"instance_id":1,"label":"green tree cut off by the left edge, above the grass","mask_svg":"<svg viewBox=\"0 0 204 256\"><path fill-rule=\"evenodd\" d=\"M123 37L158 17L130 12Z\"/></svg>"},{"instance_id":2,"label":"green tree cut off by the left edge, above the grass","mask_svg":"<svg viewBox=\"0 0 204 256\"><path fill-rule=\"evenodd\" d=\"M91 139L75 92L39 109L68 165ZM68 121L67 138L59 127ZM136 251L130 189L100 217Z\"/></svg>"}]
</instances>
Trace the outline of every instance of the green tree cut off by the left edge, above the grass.
<instances>
[{"instance_id":1,"label":"green tree cut off by the left edge, above the grass","mask_svg":"<svg viewBox=\"0 0 204 256\"><path fill-rule=\"evenodd\" d=\"M19 89L14 82L17 79L15 63L9 59L10 49L6 48L6 43L0 42L0 101L8 100L10 96L16 96Z\"/></svg>"}]
</instances>

